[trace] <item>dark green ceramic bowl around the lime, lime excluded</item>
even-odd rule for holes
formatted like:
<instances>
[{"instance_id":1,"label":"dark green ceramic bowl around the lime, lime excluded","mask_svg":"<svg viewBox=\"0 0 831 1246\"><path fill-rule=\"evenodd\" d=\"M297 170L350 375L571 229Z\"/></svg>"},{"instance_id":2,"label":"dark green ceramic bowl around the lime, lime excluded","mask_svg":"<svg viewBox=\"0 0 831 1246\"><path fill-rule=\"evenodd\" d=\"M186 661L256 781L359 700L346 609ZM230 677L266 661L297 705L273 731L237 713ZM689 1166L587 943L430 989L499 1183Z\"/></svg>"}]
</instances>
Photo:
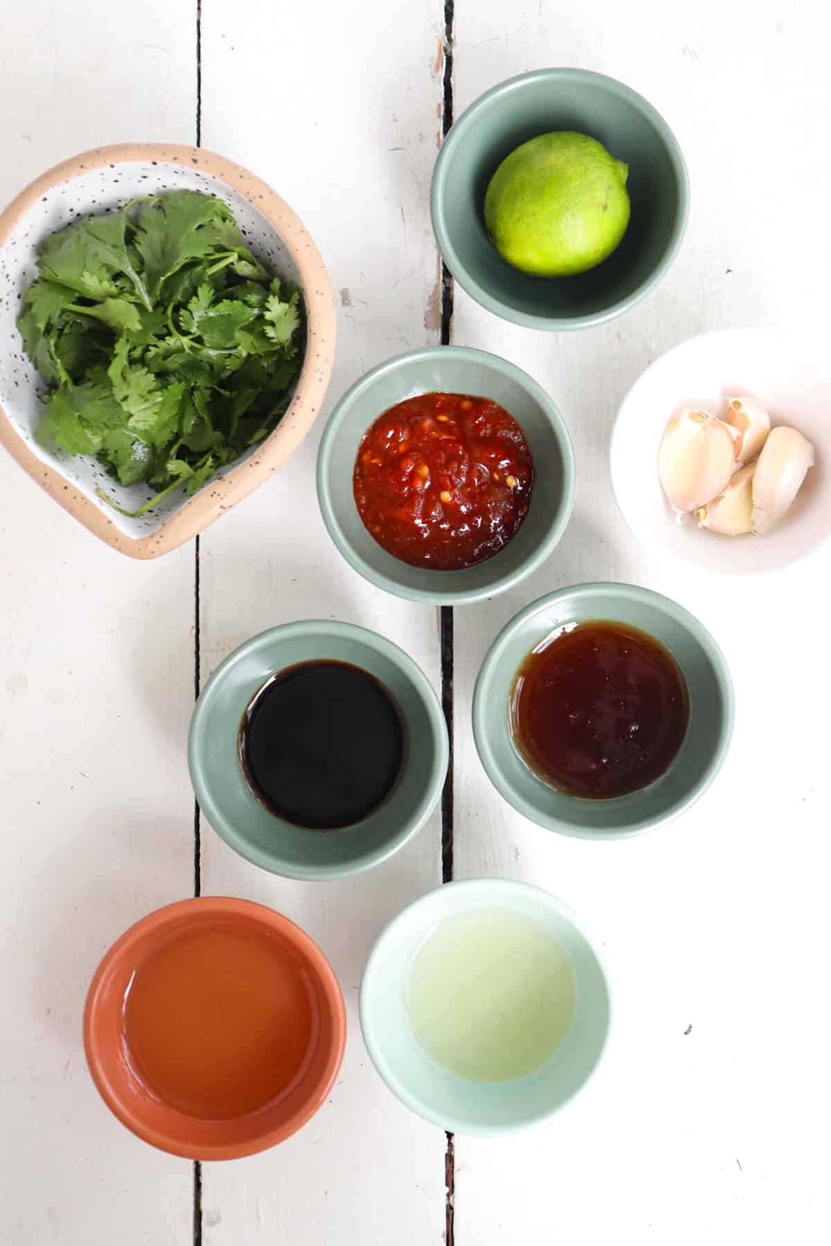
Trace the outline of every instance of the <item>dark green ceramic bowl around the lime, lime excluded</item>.
<instances>
[{"instance_id":1,"label":"dark green ceramic bowl around the lime, lime excluded","mask_svg":"<svg viewBox=\"0 0 831 1246\"><path fill-rule=\"evenodd\" d=\"M623 242L579 277L529 277L485 229L487 184L505 157L537 135L574 130L629 166L632 217ZM488 312L531 329L583 329L634 307L672 264L686 226L680 148L653 106L588 70L534 70L491 87L442 143L432 177L432 228L447 268Z\"/></svg>"}]
</instances>

